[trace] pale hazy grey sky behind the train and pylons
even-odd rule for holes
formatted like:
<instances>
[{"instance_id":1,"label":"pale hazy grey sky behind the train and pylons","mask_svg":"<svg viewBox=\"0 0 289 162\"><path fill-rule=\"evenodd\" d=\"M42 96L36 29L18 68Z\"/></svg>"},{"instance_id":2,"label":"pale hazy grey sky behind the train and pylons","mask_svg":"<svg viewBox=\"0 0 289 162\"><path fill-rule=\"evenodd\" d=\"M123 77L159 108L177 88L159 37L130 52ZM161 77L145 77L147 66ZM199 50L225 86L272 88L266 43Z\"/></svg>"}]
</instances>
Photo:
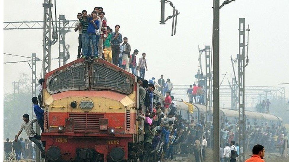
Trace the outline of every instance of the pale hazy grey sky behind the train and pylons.
<instances>
[{"instance_id":1,"label":"pale hazy grey sky behind the train and pylons","mask_svg":"<svg viewBox=\"0 0 289 162\"><path fill-rule=\"evenodd\" d=\"M171 19L160 25L159 0L118 1L56 1L58 14L69 20L76 19L78 12L91 12L95 6L104 8L107 24L121 26L120 33L128 37L132 51L139 50L137 59L145 52L148 71L146 78L160 74L170 78L174 84L191 84L198 69L198 45L211 46L213 1L172 0L181 12L178 17L176 35L171 37ZM43 1L4 0L4 21L43 20ZM53 7L55 5L53 4ZM289 1L237 0L220 10L220 73L232 78L230 56L238 53L238 20L245 18L245 27L250 24L249 65L246 67L246 84L278 86L288 83L289 71ZM54 13L54 8L52 8ZM165 17L172 14L166 4ZM55 17L53 16L53 19ZM43 30L4 30L4 53L31 56L36 53L42 58ZM247 37L247 35L246 35ZM70 45L71 62L77 58L78 32L66 34ZM58 43L52 46L51 58L58 57ZM204 60L203 55L203 60ZM4 62L28 60L4 55ZM37 74L41 71L37 62ZM58 67L52 60L52 70ZM237 66L236 66L237 68ZM203 64L203 69L204 64ZM4 64L4 92L12 91L12 82L20 73L31 75L28 63ZM221 80L221 79L220 79ZM227 80L227 79L226 79ZM227 84L227 81L225 83ZM289 86L285 86L288 95Z\"/></svg>"}]
</instances>

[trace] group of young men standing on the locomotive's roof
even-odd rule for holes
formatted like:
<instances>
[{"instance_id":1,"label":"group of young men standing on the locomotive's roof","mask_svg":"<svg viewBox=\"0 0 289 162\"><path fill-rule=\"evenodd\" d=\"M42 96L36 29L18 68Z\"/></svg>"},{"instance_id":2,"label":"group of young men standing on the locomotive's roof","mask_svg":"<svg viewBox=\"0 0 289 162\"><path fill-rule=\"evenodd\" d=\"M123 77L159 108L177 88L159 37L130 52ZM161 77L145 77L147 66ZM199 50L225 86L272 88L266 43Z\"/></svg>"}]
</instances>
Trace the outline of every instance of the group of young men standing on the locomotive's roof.
<instances>
[{"instance_id":1,"label":"group of young men standing on the locomotive's roof","mask_svg":"<svg viewBox=\"0 0 289 162\"><path fill-rule=\"evenodd\" d=\"M120 68L125 69L145 78L147 71L146 53L137 62L137 49L131 54L131 45L127 37L122 37L120 25L115 25L115 31L107 26L107 19L102 7L94 7L91 14L86 10L77 14L78 23L75 24L75 32L78 31L78 55L77 58L90 56L104 59ZM122 43L122 44L121 44Z\"/></svg>"}]
</instances>

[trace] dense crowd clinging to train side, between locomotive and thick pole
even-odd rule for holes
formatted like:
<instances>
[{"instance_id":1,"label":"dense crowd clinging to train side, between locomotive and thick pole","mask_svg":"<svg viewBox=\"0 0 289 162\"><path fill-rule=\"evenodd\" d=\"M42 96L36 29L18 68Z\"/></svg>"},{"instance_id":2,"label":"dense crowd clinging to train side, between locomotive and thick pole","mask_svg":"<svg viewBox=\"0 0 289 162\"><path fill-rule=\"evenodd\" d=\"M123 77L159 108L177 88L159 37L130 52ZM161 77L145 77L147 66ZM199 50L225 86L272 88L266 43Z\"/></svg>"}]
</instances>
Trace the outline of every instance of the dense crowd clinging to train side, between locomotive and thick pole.
<instances>
[{"instance_id":1,"label":"dense crowd clinging to train side, between locomotive and thick pole","mask_svg":"<svg viewBox=\"0 0 289 162\"><path fill-rule=\"evenodd\" d=\"M176 154L194 154L195 160L205 160L207 146L211 144L212 125L205 124L205 117L183 119L176 112L176 102L171 91L165 92L163 103L153 102L152 91L155 89L155 78L150 81L138 79L139 110L139 137L144 135L144 155L141 161L160 161L173 159ZM159 90L164 91L165 80L163 75L158 80ZM170 84L170 81L167 81ZM171 90L171 89L170 89ZM190 109L193 109L193 105ZM191 110L192 111L192 110ZM143 128L143 129L142 129Z\"/></svg>"}]
</instances>

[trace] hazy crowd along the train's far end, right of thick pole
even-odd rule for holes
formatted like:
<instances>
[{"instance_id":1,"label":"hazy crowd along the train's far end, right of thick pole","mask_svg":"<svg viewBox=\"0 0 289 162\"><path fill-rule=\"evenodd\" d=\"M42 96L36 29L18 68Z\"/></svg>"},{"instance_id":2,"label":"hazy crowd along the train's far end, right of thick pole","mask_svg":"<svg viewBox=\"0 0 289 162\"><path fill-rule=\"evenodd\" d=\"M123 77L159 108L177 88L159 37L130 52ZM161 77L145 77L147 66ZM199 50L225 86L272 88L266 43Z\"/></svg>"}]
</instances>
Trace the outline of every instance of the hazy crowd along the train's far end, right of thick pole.
<instances>
[{"instance_id":1,"label":"hazy crowd along the train's far end, right of thick pole","mask_svg":"<svg viewBox=\"0 0 289 162\"><path fill-rule=\"evenodd\" d=\"M235 128L234 128L235 127ZM224 127L220 130L220 157L221 161L230 161L231 158L230 151L232 150L232 145L236 147L237 155L240 153L239 144L235 143L238 141L238 125L233 125L230 122L226 121ZM267 151L276 152L276 148L279 148L280 156L283 156L284 153L284 141L288 141L288 131L285 127L279 127L273 125L272 127L268 126L268 123L265 123L265 126L251 125L250 122L247 123L245 127L245 150L250 150L253 148L256 143L263 145ZM234 141L232 143L232 141ZM221 154L221 152L223 154Z\"/></svg>"}]
</instances>

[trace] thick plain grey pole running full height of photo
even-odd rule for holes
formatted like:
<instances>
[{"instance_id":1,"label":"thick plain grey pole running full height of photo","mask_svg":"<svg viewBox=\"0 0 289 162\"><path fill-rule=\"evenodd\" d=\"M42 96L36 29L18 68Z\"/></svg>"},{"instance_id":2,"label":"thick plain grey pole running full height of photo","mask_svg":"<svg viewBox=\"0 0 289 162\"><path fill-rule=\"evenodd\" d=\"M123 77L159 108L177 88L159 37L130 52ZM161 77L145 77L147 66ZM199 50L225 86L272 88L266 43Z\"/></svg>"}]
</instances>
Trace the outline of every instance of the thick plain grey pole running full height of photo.
<instances>
[{"instance_id":1,"label":"thick plain grey pole running full height of photo","mask_svg":"<svg viewBox=\"0 0 289 162\"><path fill-rule=\"evenodd\" d=\"M218 162L220 159L219 148L220 148L220 116L219 116L219 6L220 1L214 1L213 11L213 124L214 124L214 145L213 145L213 161Z\"/></svg>"}]
</instances>

